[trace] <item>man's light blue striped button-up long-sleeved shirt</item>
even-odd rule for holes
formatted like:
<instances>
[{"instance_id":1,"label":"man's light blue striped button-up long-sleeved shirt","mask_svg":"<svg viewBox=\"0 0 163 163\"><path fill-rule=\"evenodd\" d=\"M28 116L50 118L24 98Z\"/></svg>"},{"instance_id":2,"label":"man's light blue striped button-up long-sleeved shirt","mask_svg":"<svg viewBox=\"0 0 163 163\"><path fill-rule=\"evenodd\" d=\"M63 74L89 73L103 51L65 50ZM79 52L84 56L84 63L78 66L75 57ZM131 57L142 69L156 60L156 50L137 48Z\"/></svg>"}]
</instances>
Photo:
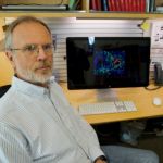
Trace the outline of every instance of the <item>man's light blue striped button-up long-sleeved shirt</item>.
<instances>
[{"instance_id":1,"label":"man's light blue striped button-up long-sleeved shirt","mask_svg":"<svg viewBox=\"0 0 163 163\"><path fill-rule=\"evenodd\" d=\"M54 80L46 89L13 77L0 99L0 162L91 163L99 155L95 130Z\"/></svg>"}]
</instances>

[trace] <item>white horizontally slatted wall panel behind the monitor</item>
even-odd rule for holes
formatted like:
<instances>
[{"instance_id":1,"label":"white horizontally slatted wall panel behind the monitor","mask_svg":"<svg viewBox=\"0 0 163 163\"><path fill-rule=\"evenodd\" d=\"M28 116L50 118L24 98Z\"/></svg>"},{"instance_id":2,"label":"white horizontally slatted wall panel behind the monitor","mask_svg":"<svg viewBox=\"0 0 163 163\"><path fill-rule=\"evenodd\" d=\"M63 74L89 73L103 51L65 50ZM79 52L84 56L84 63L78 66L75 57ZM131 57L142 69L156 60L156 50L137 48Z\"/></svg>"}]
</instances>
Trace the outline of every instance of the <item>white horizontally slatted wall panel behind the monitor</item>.
<instances>
[{"instance_id":1,"label":"white horizontally slatted wall panel behind the monitor","mask_svg":"<svg viewBox=\"0 0 163 163\"><path fill-rule=\"evenodd\" d=\"M7 24L13 18L7 18ZM143 20L82 20L82 18L43 18L57 38L54 53L54 74L66 80L66 47L65 38L70 36L114 36L114 37L143 37L150 36L140 28Z\"/></svg>"}]
</instances>

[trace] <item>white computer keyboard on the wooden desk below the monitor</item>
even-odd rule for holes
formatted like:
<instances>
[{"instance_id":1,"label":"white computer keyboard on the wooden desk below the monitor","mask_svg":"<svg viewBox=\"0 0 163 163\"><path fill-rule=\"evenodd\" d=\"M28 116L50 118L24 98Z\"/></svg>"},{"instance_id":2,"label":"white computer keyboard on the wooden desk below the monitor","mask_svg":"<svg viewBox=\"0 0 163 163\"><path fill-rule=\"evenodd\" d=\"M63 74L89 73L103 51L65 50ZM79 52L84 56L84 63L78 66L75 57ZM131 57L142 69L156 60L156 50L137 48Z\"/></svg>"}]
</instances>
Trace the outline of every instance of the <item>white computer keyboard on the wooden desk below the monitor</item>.
<instances>
[{"instance_id":1,"label":"white computer keyboard on the wooden desk below the monitor","mask_svg":"<svg viewBox=\"0 0 163 163\"><path fill-rule=\"evenodd\" d=\"M133 111L137 111L137 108L133 101L100 102L79 105L80 115L120 113Z\"/></svg>"}]
</instances>

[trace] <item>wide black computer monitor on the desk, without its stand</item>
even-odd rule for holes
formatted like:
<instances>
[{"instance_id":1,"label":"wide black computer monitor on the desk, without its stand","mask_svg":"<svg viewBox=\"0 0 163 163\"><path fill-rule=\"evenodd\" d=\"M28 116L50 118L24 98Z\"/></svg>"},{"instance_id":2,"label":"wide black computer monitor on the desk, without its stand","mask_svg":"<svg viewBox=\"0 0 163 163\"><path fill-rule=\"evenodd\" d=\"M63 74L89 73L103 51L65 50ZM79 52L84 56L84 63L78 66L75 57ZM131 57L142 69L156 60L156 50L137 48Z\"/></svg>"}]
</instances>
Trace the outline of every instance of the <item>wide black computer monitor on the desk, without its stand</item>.
<instances>
[{"instance_id":1,"label":"wide black computer monitor on the desk, without its stand","mask_svg":"<svg viewBox=\"0 0 163 163\"><path fill-rule=\"evenodd\" d=\"M149 84L149 37L66 38L68 89L140 87Z\"/></svg>"}]
</instances>

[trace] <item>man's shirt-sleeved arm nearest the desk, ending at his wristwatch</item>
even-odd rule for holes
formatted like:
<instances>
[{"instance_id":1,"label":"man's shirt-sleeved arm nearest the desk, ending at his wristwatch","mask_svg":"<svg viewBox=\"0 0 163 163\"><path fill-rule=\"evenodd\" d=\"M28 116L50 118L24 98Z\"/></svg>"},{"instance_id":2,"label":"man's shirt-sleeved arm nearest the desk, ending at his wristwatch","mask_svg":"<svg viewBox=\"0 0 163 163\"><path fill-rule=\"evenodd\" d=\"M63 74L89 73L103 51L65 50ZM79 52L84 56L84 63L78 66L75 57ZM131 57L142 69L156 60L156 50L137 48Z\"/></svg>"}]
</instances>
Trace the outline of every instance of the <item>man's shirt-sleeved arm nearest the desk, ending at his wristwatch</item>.
<instances>
[{"instance_id":1,"label":"man's shirt-sleeved arm nearest the desk, ending at his wristwatch","mask_svg":"<svg viewBox=\"0 0 163 163\"><path fill-rule=\"evenodd\" d=\"M100 155L104 155L103 151L100 148L99 141L98 141L98 137L96 131L93 130L93 128L77 113L77 110L73 109L70 105L70 102L67 101L65 95L63 93L62 88L57 84L53 83L54 87L53 87L53 93L55 95L55 97L58 97L62 103L64 103L64 105L67 106L68 109L68 115L72 118L72 121L75 122L75 126L77 126L77 128L79 128L79 130L82 130L83 135L86 138L87 141L87 146L89 148L89 158L92 160L92 162L95 162L95 160L100 156Z\"/></svg>"}]
</instances>

